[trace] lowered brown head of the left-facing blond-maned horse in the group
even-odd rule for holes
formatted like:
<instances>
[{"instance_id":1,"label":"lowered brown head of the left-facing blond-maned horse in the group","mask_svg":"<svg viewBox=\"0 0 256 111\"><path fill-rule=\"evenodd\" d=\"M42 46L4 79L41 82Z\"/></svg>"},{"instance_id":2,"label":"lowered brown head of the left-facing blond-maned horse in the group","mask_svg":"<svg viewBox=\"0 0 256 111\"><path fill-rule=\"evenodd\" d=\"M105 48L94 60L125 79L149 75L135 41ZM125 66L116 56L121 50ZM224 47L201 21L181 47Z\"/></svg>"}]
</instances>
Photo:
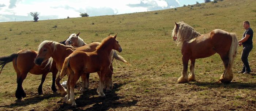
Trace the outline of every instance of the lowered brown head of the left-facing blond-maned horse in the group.
<instances>
[{"instance_id":1,"label":"lowered brown head of the left-facing blond-maned horse in the group","mask_svg":"<svg viewBox=\"0 0 256 111\"><path fill-rule=\"evenodd\" d=\"M52 44L55 43L53 41L43 41L39 46L38 46L38 54L37 57L35 57L35 64L36 65L41 65L42 62L45 62L48 60L54 51L54 47L52 47ZM49 62L49 61L48 61Z\"/></svg>"}]
</instances>

